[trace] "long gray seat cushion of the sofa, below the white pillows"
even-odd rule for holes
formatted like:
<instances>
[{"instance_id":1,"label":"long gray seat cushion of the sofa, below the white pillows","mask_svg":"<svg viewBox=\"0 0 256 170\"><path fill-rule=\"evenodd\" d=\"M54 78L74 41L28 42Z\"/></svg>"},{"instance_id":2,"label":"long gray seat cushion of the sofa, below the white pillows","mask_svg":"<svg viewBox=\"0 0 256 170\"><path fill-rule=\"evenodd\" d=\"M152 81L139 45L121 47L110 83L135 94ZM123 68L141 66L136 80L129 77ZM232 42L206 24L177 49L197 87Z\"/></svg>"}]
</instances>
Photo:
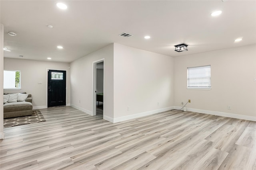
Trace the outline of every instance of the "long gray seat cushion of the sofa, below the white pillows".
<instances>
[{"instance_id":1,"label":"long gray seat cushion of the sofa, below the white pillows","mask_svg":"<svg viewBox=\"0 0 256 170\"><path fill-rule=\"evenodd\" d=\"M32 110L33 106L30 102L12 102L4 104L4 112Z\"/></svg>"}]
</instances>

